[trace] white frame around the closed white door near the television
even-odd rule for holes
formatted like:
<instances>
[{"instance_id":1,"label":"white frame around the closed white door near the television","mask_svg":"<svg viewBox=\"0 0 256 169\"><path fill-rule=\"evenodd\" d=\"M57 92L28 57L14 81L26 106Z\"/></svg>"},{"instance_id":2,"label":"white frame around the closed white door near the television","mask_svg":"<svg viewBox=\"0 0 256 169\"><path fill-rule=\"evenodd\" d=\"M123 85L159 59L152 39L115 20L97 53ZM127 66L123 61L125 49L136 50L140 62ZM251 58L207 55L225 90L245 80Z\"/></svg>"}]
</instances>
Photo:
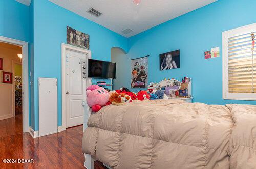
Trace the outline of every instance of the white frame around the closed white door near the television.
<instances>
[{"instance_id":1,"label":"white frame around the closed white door near the television","mask_svg":"<svg viewBox=\"0 0 256 169\"><path fill-rule=\"evenodd\" d=\"M66 119L66 50L72 50L72 51L76 51L76 52L80 52L80 53L84 53L88 55L88 58L91 59L92 58L92 52L91 50L87 50L87 49L83 49L80 47L76 47L76 46L72 46L72 45L68 45L65 43L61 43L61 94L62 94L62 131L66 130L66 126L67 126L67 119ZM91 83L91 79L88 78L87 79L87 84L90 85Z\"/></svg>"}]
</instances>

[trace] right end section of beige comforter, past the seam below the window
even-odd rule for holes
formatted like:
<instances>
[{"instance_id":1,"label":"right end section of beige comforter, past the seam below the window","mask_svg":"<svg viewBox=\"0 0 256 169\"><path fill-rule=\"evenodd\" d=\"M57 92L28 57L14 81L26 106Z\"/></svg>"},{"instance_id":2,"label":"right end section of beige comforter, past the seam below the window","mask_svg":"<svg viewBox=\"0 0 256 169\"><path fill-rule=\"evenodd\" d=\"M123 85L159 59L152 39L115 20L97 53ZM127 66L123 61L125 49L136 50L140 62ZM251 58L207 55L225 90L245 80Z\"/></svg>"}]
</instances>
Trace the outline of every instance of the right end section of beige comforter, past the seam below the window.
<instances>
[{"instance_id":1,"label":"right end section of beige comforter, past the seam below the window","mask_svg":"<svg viewBox=\"0 0 256 169\"><path fill-rule=\"evenodd\" d=\"M256 106L226 106L234 120L228 147L230 168L256 168Z\"/></svg>"}]
</instances>

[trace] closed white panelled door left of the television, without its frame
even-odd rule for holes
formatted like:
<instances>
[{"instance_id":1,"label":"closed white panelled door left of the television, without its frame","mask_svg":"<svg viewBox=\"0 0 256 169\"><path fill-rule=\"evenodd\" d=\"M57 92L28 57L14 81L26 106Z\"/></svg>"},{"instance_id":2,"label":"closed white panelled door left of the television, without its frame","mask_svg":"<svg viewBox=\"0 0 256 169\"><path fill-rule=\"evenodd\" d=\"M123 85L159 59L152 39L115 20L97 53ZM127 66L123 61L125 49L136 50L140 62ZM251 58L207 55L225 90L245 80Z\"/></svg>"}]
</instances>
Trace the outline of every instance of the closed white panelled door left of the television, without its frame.
<instances>
[{"instance_id":1,"label":"closed white panelled door left of the television, without its frame","mask_svg":"<svg viewBox=\"0 0 256 169\"><path fill-rule=\"evenodd\" d=\"M82 62L87 54L66 49L66 127L83 124L86 105L86 79L82 77Z\"/></svg>"}]
</instances>

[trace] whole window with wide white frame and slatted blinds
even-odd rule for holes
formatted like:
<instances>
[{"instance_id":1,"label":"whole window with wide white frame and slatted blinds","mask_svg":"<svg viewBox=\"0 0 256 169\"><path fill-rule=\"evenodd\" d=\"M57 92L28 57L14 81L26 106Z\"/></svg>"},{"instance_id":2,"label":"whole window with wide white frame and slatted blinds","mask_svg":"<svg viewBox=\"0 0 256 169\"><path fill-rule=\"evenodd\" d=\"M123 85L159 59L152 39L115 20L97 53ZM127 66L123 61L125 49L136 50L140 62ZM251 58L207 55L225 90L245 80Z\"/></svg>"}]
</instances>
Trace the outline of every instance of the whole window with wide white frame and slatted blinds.
<instances>
[{"instance_id":1,"label":"whole window with wide white frame and slatted blinds","mask_svg":"<svg viewBox=\"0 0 256 169\"><path fill-rule=\"evenodd\" d=\"M222 33L223 99L256 100L256 23Z\"/></svg>"}]
</instances>

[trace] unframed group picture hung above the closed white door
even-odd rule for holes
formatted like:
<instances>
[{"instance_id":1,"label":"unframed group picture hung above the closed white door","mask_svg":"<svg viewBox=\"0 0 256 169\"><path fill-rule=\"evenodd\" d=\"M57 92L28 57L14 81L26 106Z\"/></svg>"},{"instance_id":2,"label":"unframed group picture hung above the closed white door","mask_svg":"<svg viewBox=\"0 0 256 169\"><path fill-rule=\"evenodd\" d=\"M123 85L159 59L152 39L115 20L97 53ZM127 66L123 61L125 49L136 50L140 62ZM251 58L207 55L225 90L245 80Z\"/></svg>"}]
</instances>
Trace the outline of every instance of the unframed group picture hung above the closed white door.
<instances>
[{"instance_id":1,"label":"unframed group picture hung above the closed white door","mask_svg":"<svg viewBox=\"0 0 256 169\"><path fill-rule=\"evenodd\" d=\"M67 44L90 49L90 36L67 26Z\"/></svg>"}]
</instances>

